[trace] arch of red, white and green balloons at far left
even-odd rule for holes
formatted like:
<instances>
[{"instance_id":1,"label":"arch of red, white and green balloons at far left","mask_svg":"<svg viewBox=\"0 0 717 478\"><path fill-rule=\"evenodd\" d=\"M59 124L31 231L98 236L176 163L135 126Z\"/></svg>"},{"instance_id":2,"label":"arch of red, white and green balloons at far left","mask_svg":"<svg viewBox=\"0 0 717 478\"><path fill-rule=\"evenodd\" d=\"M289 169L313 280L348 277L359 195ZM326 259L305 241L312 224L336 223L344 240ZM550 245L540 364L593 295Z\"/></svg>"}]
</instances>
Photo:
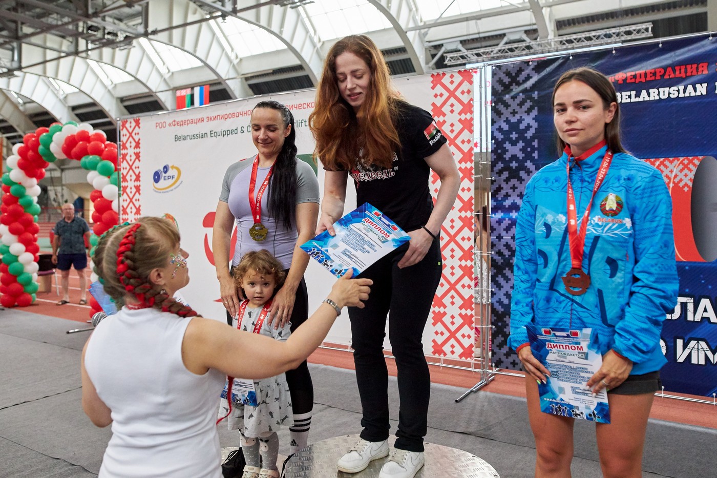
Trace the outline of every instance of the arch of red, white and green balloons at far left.
<instances>
[{"instance_id":1,"label":"arch of red, white and green balloons at far left","mask_svg":"<svg viewBox=\"0 0 717 478\"><path fill-rule=\"evenodd\" d=\"M89 123L52 123L49 128L37 128L27 133L23 142L12 148L7 158L8 172L2 176L5 193L0 206L0 304L5 307L29 306L39 289L37 271L37 204L40 194L38 182L45 176L45 168L57 159L75 159L89 171L87 182L95 188L90 200L92 212L92 248L98 236L118 224L119 174L117 144L107 141L104 131L93 129ZM90 263L90 270L92 264ZM92 282L97 277L92 275ZM90 297L90 314L100 311L100 305Z\"/></svg>"}]
</instances>

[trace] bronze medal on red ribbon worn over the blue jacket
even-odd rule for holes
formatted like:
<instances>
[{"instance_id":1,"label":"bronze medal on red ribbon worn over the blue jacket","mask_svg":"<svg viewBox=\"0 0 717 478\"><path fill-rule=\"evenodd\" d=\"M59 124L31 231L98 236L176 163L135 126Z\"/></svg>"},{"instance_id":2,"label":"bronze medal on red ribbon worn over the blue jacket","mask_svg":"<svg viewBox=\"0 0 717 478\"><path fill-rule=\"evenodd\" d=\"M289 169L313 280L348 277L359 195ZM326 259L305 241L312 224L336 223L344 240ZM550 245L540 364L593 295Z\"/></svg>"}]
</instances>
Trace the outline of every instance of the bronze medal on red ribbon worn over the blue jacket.
<instances>
[{"instance_id":1,"label":"bronze medal on red ribbon worn over the blue jacket","mask_svg":"<svg viewBox=\"0 0 717 478\"><path fill-rule=\"evenodd\" d=\"M605 145L605 141L601 141L596 144L584 154L578 156L576 161L585 159L592 155L595 151L602 148ZM566 164L566 173L568 177L568 239L570 245L570 262L571 269L566 273L562 279L565 286L565 291L573 296L580 296L585 294L588 287L590 286L590 275L582 269L582 258L585 248L585 235L587 233L587 223L590 217L590 208L592 207L592 200L594 200L598 189L602 185L607 171L610 169L610 163L612 162L612 151L609 149L606 151L605 156L602 158L602 164L597 172L595 178L595 184L592 188L592 196L590 201L587 203L587 208L582 215L580 221L580 230L577 225L577 211L575 205L575 194L573 192L573 186L570 184L570 149L569 146L565 147L565 151L568 153L568 161Z\"/></svg>"}]
</instances>

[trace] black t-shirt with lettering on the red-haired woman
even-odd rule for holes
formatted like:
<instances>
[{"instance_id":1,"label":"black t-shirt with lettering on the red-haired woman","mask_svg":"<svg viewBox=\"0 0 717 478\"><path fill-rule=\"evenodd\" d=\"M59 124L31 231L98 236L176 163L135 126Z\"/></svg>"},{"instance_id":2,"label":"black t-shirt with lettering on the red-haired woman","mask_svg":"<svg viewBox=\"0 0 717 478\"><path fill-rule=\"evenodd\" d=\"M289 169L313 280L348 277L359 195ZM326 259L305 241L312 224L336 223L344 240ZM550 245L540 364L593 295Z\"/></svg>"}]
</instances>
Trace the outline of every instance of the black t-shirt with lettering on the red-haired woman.
<instances>
[{"instance_id":1,"label":"black t-shirt with lettering on the red-haired woman","mask_svg":"<svg viewBox=\"0 0 717 478\"><path fill-rule=\"evenodd\" d=\"M446 139L430 113L409 103L399 103L394 124L401 151L394 152L393 166L366 167L359 160L349 174L356 185L357 205L368 202L411 231L424 225L433 210L431 169L424 158L438 151Z\"/></svg>"}]
</instances>

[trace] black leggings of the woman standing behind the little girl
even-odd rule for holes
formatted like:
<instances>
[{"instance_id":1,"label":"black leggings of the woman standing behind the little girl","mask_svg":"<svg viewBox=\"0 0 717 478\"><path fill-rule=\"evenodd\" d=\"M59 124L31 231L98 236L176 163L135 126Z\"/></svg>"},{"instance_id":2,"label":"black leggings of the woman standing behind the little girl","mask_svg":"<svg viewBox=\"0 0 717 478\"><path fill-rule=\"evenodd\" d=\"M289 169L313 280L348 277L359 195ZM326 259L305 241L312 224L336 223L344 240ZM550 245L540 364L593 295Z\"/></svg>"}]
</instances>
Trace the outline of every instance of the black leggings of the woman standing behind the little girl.
<instances>
[{"instance_id":1,"label":"black leggings of the woman standing behind the little girl","mask_svg":"<svg viewBox=\"0 0 717 478\"><path fill-rule=\"evenodd\" d=\"M234 272L234 266L229 270L229 273L232 272ZM285 272L288 275L289 269L286 269ZM294 309L291 311L291 332L294 332L296 327L306 322L308 317L309 296L306 290L306 281L302 277L296 289ZM227 323L232 325L232 316L229 311L227 311ZM286 383L289 385L293 413L298 415L310 412L313 409L313 382L311 381L311 374L308 365L306 365L306 360L301 362L301 365L294 370L286 371Z\"/></svg>"}]
</instances>

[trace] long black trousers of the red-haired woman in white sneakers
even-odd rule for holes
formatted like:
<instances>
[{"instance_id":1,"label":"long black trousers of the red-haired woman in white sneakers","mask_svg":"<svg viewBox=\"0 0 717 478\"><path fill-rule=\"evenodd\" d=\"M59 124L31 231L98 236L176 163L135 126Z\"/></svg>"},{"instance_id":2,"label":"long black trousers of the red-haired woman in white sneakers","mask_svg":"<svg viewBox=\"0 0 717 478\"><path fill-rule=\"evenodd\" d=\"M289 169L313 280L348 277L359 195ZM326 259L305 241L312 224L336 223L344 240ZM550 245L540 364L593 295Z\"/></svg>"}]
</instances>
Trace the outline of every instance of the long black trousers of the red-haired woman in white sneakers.
<instances>
[{"instance_id":1,"label":"long black trousers of the red-haired woman in white sneakers","mask_svg":"<svg viewBox=\"0 0 717 478\"><path fill-rule=\"evenodd\" d=\"M423 451L431 377L423 352L423 329L441 278L440 243L434 240L422 261L407 268L397 264L406 253L402 245L361 273L374 281L364 309L348 308L353 361L361 395L361 438L389 437L389 372L384 359L386 314L389 339L396 357L399 385L398 449Z\"/></svg>"}]
</instances>

